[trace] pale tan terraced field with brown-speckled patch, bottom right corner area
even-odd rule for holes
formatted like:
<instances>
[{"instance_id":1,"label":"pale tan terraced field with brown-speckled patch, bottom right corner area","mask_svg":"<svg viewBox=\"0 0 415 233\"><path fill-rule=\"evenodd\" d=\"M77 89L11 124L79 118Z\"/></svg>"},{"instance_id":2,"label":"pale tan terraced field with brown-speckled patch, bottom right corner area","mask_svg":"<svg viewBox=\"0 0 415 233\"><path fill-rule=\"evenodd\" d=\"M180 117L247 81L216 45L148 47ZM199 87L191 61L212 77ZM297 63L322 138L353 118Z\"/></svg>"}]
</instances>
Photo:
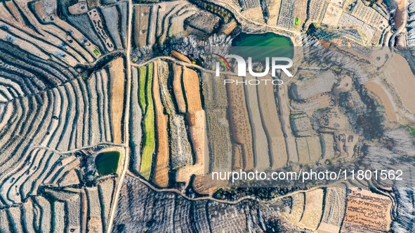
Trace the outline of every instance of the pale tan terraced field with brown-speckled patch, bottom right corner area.
<instances>
[{"instance_id":1,"label":"pale tan terraced field with brown-speckled patch, bottom right corner area","mask_svg":"<svg viewBox=\"0 0 415 233\"><path fill-rule=\"evenodd\" d=\"M357 198L357 199L356 199ZM384 200L385 204L374 204ZM291 208L283 211L290 222L296 223L308 229L317 230L317 232L349 232L353 230L376 232L385 225L359 225L360 223L350 224L349 218L357 220L357 214L364 215L371 220L367 222L382 222L386 225L390 223L389 215L383 217L374 213L385 213L390 206L390 200L387 196L375 194L367 189L357 187L348 187L340 185L336 187L327 187L324 189L313 189L307 192L298 192L284 198ZM372 201L372 202L371 202ZM355 206L357 204L357 206ZM360 205L359 205L360 204ZM373 208L373 209L372 209ZM348 217L350 216L350 217ZM350 220L350 221L353 221ZM357 220L357 222L359 222ZM354 225L357 224L357 225ZM384 231L386 228L383 228Z\"/></svg>"}]
</instances>

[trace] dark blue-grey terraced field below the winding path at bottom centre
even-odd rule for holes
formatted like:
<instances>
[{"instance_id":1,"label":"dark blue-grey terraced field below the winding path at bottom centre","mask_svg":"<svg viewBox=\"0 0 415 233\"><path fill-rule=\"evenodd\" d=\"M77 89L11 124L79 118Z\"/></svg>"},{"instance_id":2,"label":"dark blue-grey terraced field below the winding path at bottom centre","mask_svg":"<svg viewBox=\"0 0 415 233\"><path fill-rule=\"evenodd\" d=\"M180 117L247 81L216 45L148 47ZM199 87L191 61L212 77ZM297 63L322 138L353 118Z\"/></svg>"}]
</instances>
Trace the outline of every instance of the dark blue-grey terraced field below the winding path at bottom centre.
<instances>
[{"instance_id":1,"label":"dark blue-grey terraced field below the winding path at bottom centre","mask_svg":"<svg viewBox=\"0 0 415 233\"><path fill-rule=\"evenodd\" d=\"M277 206L190 201L174 192L154 192L131 176L126 177L120 195L112 232L265 232L271 230L265 222L278 214Z\"/></svg>"}]
</instances>

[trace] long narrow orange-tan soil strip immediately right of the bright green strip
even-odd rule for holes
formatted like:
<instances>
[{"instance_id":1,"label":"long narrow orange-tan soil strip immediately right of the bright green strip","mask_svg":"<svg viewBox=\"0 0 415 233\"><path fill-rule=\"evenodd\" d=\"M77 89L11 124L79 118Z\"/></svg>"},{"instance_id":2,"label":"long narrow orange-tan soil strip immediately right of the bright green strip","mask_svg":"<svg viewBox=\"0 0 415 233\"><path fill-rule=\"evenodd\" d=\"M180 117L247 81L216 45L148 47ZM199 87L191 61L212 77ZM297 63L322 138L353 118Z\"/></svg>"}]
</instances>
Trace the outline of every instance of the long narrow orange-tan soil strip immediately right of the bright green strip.
<instances>
[{"instance_id":1,"label":"long narrow orange-tan soil strip immediately right of the bright green strip","mask_svg":"<svg viewBox=\"0 0 415 233\"><path fill-rule=\"evenodd\" d=\"M154 169L154 184L159 187L169 185L169 141L167 138L167 116L163 113L162 99L160 98L158 63L154 62L153 72L153 101L156 115L157 154Z\"/></svg>"}]
</instances>

